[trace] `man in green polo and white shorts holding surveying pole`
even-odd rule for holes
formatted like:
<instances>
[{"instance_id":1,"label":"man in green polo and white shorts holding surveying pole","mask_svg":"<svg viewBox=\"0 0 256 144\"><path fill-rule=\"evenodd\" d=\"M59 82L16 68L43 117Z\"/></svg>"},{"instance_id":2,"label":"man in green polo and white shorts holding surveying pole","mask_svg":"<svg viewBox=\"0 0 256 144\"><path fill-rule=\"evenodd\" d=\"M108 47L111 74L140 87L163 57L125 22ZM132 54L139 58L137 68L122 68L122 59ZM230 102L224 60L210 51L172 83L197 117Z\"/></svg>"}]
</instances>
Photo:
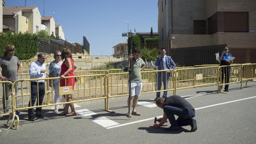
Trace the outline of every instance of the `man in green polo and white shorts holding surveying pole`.
<instances>
[{"instance_id":1,"label":"man in green polo and white shorts holding surveying pole","mask_svg":"<svg viewBox=\"0 0 256 144\"><path fill-rule=\"evenodd\" d=\"M131 115L141 115L136 111L136 106L138 103L138 96L141 95L141 88L142 88L142 79L141 79L141 70L143 70L146 67L146 64L144 61L139 58L141 55L141 50L136 48L133 51L133 56L132 54L129 55L129 58L125 64L125 66L130 66L130 61L131 61L131 97L130 97L130 110L131 110L131 104L133 105L132 111L128 110L128 114L126 115L130 117ZM129 85L129 84L128 84ZM127 100L128 106L129 106L129 97Z\"/></svg>"}]
</instances>

